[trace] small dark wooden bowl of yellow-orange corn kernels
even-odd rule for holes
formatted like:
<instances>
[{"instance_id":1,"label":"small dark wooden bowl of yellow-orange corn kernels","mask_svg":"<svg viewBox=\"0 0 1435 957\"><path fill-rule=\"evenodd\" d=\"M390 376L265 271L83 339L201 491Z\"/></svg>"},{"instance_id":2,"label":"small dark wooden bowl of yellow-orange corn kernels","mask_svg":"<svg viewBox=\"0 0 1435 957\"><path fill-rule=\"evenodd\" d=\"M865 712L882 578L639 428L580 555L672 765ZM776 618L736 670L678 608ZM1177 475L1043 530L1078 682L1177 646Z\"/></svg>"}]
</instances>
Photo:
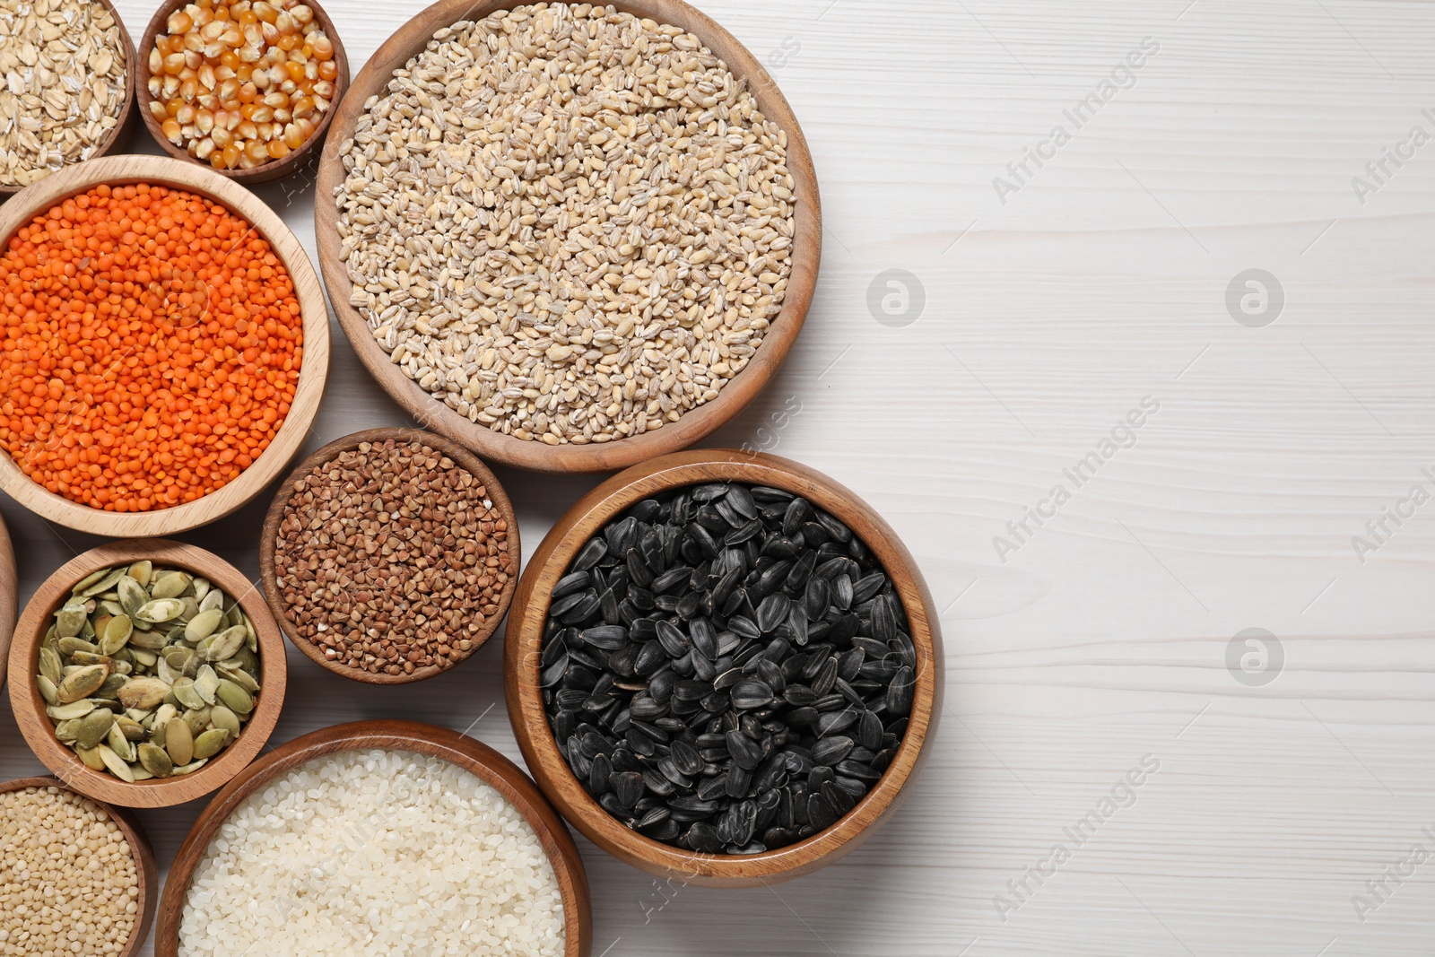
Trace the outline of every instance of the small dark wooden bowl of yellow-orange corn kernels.
<instances>
[{"instance_id":1,"label":"small dark wooden bowl of yellow-orange corn kernels","mask_svg":"<svg viewBox=\"0 0 1435 957\"><path fill-rule=\"evenodd\" d=\"M297 169L349 86L334 23L313 0L166 0L136 67L155 141L238 182Z\"/></svg>"}]
</instances>

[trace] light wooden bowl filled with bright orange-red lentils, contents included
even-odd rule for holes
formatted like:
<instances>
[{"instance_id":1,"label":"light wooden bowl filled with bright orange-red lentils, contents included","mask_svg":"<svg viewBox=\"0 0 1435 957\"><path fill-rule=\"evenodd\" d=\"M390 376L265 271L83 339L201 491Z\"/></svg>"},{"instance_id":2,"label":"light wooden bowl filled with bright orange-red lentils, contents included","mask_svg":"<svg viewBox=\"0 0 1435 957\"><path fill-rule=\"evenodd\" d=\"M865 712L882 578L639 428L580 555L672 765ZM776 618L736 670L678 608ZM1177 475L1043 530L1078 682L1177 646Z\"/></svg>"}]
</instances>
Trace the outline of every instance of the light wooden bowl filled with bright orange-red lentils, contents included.
<instances>
[{"instance_id":1,"label":"light wooden bowl filled with bright orange-red lentils, contents included","mask_svg":"<svg viewBox=\"0 0 1435 957\"><path fill-rule=\"evenodd\" d=\"M0 207L0 491L113 538L212 522L283 473L329 372L303 247L164 156L69 166Z\"/></svg>"}]
</instances>

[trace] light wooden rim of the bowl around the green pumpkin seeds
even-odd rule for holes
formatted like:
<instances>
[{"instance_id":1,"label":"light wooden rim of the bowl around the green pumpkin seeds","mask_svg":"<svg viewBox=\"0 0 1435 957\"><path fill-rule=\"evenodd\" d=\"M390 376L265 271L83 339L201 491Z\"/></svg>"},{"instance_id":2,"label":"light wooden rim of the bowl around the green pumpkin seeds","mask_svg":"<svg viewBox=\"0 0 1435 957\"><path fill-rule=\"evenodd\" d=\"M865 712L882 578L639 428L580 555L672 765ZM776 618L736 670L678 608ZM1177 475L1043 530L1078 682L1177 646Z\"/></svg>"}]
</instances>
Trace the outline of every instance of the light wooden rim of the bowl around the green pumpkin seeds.
<instances>
[{"instance_id":1,"label":"light wooden rim of the bowl around the green pumpkin seeds","mask_svg":"<svg viewBox=\"0 0 1435 957\"><path fill-rule=\"evenodd\" d=\"M73 750L59 742L55 736L55 722L44 712L44 699L40 696L34 674L39 671L40 643L44 640L44 633L55 621L55 611L65 604L65 598L69 597L75 584L92 571L145 558L156 565L172 565L204 575L222 588L225 594L238 600L244 614L250 617L258 633L258 657L264 680L260 682L261 689L254 715L240 732L238 740L221 750L218 758L179 778L152 778L128 783L108 772L92 770ZM44 762L46 768L59 775L75 791L96 801L108 801L123 808L168 808L202 798L254 760L274 730L280 709L284 706L287 663L284 638L280 636L278 626L274 624L268 607L260 601L254 584L238 568L202 548L156 538L100 545L79 558L72 558L50 575L20 616L16 638L10 646L10 674L14 677L10 682L10 707L14 709L16 723L29 742L30 750Z\"/></svg>"}]
</instances>

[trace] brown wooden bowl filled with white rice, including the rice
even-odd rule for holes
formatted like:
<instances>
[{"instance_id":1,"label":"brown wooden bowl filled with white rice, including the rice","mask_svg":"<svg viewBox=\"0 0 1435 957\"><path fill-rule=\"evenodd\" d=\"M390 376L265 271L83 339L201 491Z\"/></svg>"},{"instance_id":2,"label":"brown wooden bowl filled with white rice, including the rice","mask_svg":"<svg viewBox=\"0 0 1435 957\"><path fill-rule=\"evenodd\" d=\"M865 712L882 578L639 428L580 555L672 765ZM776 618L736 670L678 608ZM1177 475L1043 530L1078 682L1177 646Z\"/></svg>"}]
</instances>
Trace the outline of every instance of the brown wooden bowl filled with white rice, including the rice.
<instances>
[{"instance_id":1,"label":"brown wooden bowl filled with white rice, including the rice","mask_svg":"<svg viewBox=\"0 0 1435 957\"><path fill-rule=\"evenodd\" d=\"M587 957L588 881L534 782L446 727L304 735L230 782L165 884L159 957Z\"/></svg>"}]
</instances>

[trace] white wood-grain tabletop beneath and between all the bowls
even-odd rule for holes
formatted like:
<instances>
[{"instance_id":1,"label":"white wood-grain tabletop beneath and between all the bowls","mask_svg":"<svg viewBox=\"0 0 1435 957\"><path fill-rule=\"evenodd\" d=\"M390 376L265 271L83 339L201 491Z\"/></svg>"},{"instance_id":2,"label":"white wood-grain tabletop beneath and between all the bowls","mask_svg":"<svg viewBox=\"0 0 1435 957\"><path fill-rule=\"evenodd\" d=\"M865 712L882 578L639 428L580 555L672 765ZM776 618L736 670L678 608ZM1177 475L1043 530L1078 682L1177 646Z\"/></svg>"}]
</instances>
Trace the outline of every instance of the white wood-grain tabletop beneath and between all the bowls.
<instances>
[{"instance_id":1,"label":"white wood-grain tabletop beneath and between all the bowls","mask_svg":"<svg viewBox=\"0 0 1435 957\"><path fill-rule=\"evenodd\" d=\"M357 70L420 6L327 9ZM713 445L905 537L949 707L815 877L673 890L584 845L594 956L1431 954L1435 4L703 6L792 100L828 224L802 340ZM313 254L310 184L260 192ZM310 448L405 422L334 337ZM597 482L499 475L530 548ZM265 505L185 538L257 574ZM95 544L0 511L22 600ZM291 653L274 740L415 717L517 759L499 644L402 690ZM0 710L0 778L39 772ZM141 812L162 861L197 814Z\"/></svg>"}]
</instances>

